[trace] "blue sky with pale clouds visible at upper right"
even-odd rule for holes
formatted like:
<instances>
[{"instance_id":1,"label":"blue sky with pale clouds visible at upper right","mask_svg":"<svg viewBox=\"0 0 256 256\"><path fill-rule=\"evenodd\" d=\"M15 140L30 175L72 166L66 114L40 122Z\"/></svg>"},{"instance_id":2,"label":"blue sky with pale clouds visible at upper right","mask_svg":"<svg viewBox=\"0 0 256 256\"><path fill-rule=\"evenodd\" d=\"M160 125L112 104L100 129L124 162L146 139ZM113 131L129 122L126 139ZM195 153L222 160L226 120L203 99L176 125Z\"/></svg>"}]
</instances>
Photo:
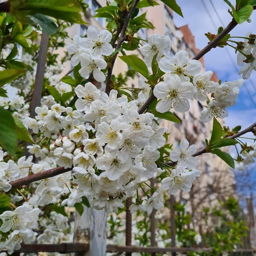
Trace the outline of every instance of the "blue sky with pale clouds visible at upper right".
<instances>
[{"instance_id":1,"label":"blue sky with pale clouds visible at upper right","mask_svg":"<svg viewBox=\"0 0 256 256\"><path fill-rule=\"evenodd\" d=\"M175 25L177 27L189 25L199 49L204 48L209 42L204 33L216 34L216 28L226 27L232 19L227 12L229 6L223 0L176 0L176 2L181 7L184 18L175 14ZM230 2L235 4L235 0L230 0ZM231 31L231 36L245 36L248 31L256 34L256 11L252 13L251 20L250 23L244 22L237 25ZM237 40L243 41L241 38ZM216 72L222 82L242 78L238 75L240 67L236 62L235 51L229 46L211 49L204 56L204 62L206 70ZM236 105L227 110L229 117L226 119L226 124L230 127L239 124L242 128L246 128L256 121L256 118L253 118L256 116L256 72L253 72L249 81L246 80L240 88Z\"/></svg>"}]
</instances>

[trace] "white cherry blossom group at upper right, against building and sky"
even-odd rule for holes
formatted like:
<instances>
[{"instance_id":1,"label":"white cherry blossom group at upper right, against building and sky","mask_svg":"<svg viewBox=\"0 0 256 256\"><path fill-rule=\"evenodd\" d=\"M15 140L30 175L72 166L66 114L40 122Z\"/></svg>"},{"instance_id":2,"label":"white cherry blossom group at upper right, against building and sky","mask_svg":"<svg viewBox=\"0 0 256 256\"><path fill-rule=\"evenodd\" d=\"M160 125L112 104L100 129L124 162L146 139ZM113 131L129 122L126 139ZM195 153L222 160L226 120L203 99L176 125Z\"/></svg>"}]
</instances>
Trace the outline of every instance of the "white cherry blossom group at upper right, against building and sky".
<instances>
[{"instance_id":1,"label":"white cherry blossom group at upper right, against building and sky","mask_svg":"<svg viewBox=\"0 0 256 256\"><path fill-rule=\"evenodd\" d=\"M152 35L148 38L148 44L142 47L142 54L147 57L146 61L152 60L154 53L161 53L162 58L156 58L156 60L160 70L167 74L164 81L155 85L153 89L155 97L160 99L156 110L161 113L170 109L186 112L190 107L189 99L194 98L203 102L207 101L207 108L202 110L200 121L208 122L213 117L227 117L226 108L236 103L239 87L244 80L238 79L221 84L213 82L210 80L213 72L207 71L201 74L200 61L189 60L187 52L179 51L173 58L169 57L168 49L171 47L171 40L168 36L160 38L158 34ZM149 62L146 64L149 65ZM212 98L211 101L209 97Z\"/></svg>"}]
</instances>

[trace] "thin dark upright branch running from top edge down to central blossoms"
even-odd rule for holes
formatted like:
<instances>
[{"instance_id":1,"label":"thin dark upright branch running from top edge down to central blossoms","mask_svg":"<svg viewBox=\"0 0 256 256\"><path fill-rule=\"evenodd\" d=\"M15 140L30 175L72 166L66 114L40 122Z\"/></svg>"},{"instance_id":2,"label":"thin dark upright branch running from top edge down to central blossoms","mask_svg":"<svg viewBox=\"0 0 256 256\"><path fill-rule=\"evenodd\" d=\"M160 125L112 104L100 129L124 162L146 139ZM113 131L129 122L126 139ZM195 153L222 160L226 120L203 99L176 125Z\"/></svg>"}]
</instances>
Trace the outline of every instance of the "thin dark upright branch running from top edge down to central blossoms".
<instances>
[{"instance_id":1,"label":"thin dark upright branch running from top edge down to central blossoms","mask_svg":"<svg viewBox=\"0 0 256 256\"><path fill-rule=\"evenodd\" d=\"M121 34L120 34L119 40L117 42L116 49L119 49L121 47L121 44L124 42L124 35L125 35L125 32L126 32L126 28L127 28L128 23L130 21L130 18L132 17L132 13L135 10L135 8L136 8L136 6L137 6L139 1L140 0L135 0L134 1L134 3L132 4L132 7L131 7L129 13L127 14L127 16L125 18L124 26L122 27ZM113 67L114 67L114 64L115 64L115 61L116 61L116 58L117 58L117 54L118 54L118 52L113 57L113 60L111 62L111 67L108 68L108 76L107 76L106 89L105 89L105 92L108 95L110 93L111 76L112 76Z\"/></svg>"}]
</instances>

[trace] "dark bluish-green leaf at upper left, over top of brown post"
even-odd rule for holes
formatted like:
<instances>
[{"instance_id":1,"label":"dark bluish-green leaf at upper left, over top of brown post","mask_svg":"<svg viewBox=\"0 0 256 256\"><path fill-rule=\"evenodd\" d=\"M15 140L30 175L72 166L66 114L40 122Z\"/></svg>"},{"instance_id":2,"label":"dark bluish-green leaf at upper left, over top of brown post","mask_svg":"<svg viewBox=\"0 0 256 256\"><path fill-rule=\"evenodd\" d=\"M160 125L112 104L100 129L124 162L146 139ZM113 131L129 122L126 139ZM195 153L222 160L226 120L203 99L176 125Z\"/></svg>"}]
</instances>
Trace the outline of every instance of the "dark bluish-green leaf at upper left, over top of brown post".
<instances>
[{"instance_id":1,"label":"dark bluish-green leaf at upper left, over top of brown post","mask_svg":"<svg viewBox=\"0 0 256 256\"><path fill-rule=\"evenodd\" d=\"M56 23L43 14L36 13L34 15L31 15L30 18L35 23L39 24L43 31L48 35L54 35L58 31Z\"/></svg>"}]
</instances>

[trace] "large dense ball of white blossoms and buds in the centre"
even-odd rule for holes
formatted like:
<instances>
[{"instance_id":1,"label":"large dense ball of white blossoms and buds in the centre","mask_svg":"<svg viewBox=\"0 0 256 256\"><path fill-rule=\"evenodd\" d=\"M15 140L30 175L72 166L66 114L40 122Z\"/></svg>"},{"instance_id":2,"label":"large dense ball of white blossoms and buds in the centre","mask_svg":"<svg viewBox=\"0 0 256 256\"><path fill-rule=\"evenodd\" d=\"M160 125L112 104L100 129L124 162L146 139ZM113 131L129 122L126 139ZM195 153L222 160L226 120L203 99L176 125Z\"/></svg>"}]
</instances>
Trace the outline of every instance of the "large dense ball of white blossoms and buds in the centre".
<instances>
[{"instance_id":1,"label":"large dense ball of white blossoms and buds in the centre","mask_svg":"<svg viewBox=\"0 0 256 256\"><path fill-rule=\"evenodd\" d=\"M115 90L108 96L89 82L78 85L75 92L79 97L75 106L84 113L84 123L50 147L59 166L74 166L78 186L62 204L72 206L80 202L81 196L89 196L96 209L117 211L124 207L122 201L135 192L138 183L157 172L157 149L165 144L166 128L159 128L153 114L139 114L135 101L117 99ZM94 122L95 130L87 122ZM54 191L53 185L38 187Z\"/></svg>"}]
</instances>

